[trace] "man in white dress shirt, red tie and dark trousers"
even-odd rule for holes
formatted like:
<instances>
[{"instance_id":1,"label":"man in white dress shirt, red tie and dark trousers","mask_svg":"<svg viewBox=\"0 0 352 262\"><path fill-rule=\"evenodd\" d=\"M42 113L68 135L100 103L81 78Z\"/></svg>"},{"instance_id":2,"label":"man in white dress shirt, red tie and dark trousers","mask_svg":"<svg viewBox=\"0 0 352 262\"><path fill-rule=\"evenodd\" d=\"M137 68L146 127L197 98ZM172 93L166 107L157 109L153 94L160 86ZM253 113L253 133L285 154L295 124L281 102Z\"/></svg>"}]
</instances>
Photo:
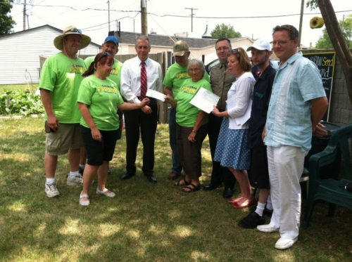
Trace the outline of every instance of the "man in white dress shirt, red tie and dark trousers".
<instances>
[{"instance_id":1,"label":"man in white dress shirt, red tie and dark trousers","mask_svg":"<svg viewBox=\"0 0 352 262\"><path fill-rule=\"evenodd\" d=\"M140 103L144 96L141 86L142 67L146 70L146 89L162 91L161 65L148 58L151 51L149 38L141 35L136 39L137 56L125 61L121 72L121 94L129 103ZM126 173L121 179L132 178L136 174L137 146L139 133L143 143L143 165L142 171L151 183L156 183L153 176L154 169L154 141L156 126L158 122L158 105L155 98L150 98L149 105L139 110L125 112L126 130ZM140 132L139 132L140 130Z\"/></svg>"}]
</instances>

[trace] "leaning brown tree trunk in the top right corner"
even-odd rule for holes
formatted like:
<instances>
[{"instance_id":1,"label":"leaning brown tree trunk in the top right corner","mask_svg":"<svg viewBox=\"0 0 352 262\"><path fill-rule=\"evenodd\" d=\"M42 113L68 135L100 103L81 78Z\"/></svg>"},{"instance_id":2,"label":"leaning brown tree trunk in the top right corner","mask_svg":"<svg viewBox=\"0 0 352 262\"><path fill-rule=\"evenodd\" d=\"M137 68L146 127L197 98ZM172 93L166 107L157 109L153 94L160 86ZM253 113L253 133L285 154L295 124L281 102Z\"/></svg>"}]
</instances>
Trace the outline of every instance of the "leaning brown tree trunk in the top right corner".
<instances>
[{"instance_id":1,"label":"leaning brown tree trunk in the top right corner","mask_svg":"<svg viewBox=\"0 0 352 262\"><path fill-rule=\"evenodd\" d=\"M316 8L317 6L322 13L327 34L329 34L332 46L341 63L342 72L344 72L346 79L348 97L352 105L352 54L348 49L346 38L341 31L339 22L337 22L335 11L330 0L310 0L307 2L307 7Z\"/></svg>"}]
</instances>

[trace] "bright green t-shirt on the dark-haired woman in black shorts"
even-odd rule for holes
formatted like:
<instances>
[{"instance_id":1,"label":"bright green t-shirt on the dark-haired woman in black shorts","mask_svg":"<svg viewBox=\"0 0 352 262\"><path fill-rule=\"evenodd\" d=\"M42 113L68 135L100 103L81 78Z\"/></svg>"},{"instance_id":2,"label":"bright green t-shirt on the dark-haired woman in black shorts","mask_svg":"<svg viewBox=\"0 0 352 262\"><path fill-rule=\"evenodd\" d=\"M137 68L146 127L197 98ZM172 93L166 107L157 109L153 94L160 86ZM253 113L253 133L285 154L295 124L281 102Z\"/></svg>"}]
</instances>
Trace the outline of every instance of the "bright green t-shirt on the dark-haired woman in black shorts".
<instances>
[{"instance_id":1,"label":"bright green t-shirt on the dark-haired woman in black shorts","mask_svg":"<svg viewBox=\"0 0 352 262\"><path fill-rule=\"evenodd\" d=\"M77 102L88 105L94 124L99 130L118 129L118 105L123 103L118 87L111 79L101 80L93 74L83 79ZM81 117L80 124L89 128Z\"/></svg>"}]
</instances>

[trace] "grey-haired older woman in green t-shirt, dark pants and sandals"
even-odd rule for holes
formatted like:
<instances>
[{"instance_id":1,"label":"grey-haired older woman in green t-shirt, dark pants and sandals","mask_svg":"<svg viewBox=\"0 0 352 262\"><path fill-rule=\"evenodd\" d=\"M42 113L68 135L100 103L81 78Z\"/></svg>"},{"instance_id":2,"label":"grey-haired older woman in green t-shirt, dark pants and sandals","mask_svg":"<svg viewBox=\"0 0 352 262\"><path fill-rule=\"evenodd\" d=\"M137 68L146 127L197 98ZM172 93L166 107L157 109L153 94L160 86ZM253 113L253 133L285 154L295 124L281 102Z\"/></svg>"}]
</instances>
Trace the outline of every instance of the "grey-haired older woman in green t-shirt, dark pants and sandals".
<instances>
[{"instance_id":1,"label":"grey-haired older woman in green t-shirt, dark pants and sandals","mask_svg":"<svg viewBox=\"0 0 352 262\"><path fill-rule=\"evenodd\" d=\"M189 102L201 87L212 91L209 82L203 79L206 69L201 60L189 61L187 70L191 79L184 80L175 99L168 95L165 102L176 107L177 153L186 173L175 185L183 185L183 192L194 192L201 189L201 146L206 138L208 114Z\"/></svg>"}]
</instances>

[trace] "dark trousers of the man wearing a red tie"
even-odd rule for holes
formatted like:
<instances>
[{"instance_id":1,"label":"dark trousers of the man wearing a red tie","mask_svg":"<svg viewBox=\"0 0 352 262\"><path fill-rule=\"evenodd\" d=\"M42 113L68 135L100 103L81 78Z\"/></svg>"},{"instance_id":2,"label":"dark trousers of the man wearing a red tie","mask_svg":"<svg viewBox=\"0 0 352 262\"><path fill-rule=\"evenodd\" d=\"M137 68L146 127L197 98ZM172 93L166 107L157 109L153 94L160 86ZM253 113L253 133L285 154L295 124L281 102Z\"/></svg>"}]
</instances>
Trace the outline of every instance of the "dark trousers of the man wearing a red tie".
<instances>
[{"instance_id":1,"label":"dark trousers of the man wearing a red tie","mask_svg":"<svg viewBox=\"0 0 352 262\"><path fill-rule=\"evenodd\" d=\"M149 103L151 114L144 114L140 109L126 110L125 130L126 130L126 171L136 173L137 147L139 142L139 130L143 143L143 166L144 175L153 174L154 169L154 142L156 136L156 126L158 124L158 105L156 99L151 98Z\"/></svg>"}]
</instances>

